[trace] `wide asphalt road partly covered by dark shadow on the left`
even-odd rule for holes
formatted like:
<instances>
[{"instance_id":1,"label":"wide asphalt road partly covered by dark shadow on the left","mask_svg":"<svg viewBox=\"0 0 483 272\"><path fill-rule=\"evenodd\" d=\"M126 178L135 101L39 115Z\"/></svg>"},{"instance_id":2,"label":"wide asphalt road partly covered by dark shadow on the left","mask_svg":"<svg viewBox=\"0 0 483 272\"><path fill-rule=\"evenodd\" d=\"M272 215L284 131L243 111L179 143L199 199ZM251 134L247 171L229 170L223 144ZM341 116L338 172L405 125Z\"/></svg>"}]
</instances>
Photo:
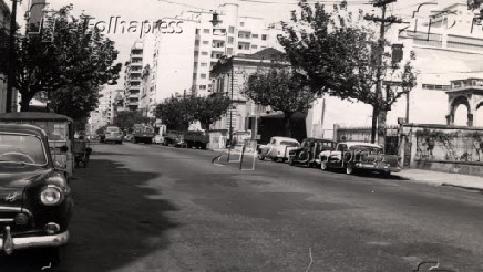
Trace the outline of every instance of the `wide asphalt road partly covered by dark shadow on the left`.
<instances>
[{"instance_id":1,"label":"wide asphalt road partly covered by dark shadow on the left","mask_svg":"<svg viewBox=\"0 0 483 272\"><path fill-rule=\"evenodd\" d=\"M72 182L65 260L43 271L483 271L481 193L271 161L240 171L209 150L93 149ZM43 250L0 257L1 272L42 266Z\"/></svg>"}]
</instances>

